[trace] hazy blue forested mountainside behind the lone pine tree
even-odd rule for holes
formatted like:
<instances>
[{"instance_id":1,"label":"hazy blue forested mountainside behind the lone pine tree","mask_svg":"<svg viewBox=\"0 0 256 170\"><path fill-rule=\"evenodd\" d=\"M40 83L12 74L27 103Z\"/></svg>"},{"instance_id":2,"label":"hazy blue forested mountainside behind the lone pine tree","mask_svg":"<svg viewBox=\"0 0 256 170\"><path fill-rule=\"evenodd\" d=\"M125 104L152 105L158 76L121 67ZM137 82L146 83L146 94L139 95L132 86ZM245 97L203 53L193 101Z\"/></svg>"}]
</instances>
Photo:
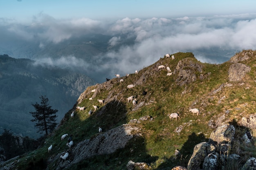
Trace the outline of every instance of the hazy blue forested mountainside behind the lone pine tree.
<instances>
[{"instance_id":1,"label":"hazy blue forested mountainside behind the lone pine tree","mask_svg":"<svg viewBox=\"0 0 256 170\"><path fill-rule=\"evenodd\" d=\"M59 122L76 103L79 95L97 82L81 73L57 66L38 65L29 59L15 59L0 55L0 133L4 129L14 134L38 138L31 114L32 103L40 103L40 96L49 99L57 109Z\"/></svg>"}]
</instances>

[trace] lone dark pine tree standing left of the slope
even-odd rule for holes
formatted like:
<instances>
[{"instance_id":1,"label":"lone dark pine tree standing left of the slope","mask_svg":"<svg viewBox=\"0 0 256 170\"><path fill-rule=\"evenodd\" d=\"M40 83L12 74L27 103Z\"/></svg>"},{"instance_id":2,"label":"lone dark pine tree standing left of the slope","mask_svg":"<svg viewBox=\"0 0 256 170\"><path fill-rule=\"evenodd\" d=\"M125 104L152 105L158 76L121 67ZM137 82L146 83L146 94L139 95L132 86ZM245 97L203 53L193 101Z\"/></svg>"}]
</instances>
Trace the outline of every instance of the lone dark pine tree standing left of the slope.
<instances>
[{"instance_id":1,"label":"lone dark pine tree standing left of the slope","mask_svg":"<svg viewBox=\"0 0 256 170\"><path fill-rule=\"evenodd\" d=\"M36 109L35 112L29 112L35 119L31 119L31 121L36 121L36 128L38 128L37 132L43 133L48 135L48 132L52 132L54 128L57 126L56 123L56 113L58 110L52 109L52 106L48 104L48 98L45 96L41 96L41 104L32 104Z\"/></svg>"}]
</instances>

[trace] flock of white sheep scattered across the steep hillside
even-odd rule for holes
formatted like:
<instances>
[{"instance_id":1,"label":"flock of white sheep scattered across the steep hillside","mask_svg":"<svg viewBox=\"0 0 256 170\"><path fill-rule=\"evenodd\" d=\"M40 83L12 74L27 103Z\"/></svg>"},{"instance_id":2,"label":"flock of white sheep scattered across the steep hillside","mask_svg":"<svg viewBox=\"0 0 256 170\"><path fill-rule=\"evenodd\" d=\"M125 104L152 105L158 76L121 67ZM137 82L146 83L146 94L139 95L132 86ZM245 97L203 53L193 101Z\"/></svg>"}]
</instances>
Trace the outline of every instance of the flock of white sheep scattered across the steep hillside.
<instances>
[{"instance_id":1,"label":"flock of white sheep scattered across the steep hillside","mask_svg":"<svg viewBox=\"0 0 256 170\"><path fill-rule=\"evenodd\" d=\"M165 55L165 57L166 58L170 58L171 57L171 59L172 60L174 60L175 59L175 57L174 57L174 55L170 55L170 54L166 54ZM165 67L164 65L160 65L160 66L158 66L158 71L159 70L161 70L161 69L167 69L167 76L170 76L170 75L172 75L173 73L171 72L171 69L170 69L170 67ZM135 75L137 75L139 73L139 71L135 71ZM115 76L117 77L117 78L120 78L121 76L119 75L119 74L115 74ZM126 77L128 77L129 76L129 74L126 74ZM109 81L110 79L106 79L107 81ZM124 82L124 79L120 79L120 83L121 82ZM128 86L127 86L127 88L133 88L133 87L135 87L135 85L133 85L133 84L129 84ZM96 89L93 89L91 92L92 93L94 93L96 91ZM145 93L146 94L146 92L144 91L143 93ZM89 100L92 100L92 97L90 97L89 98ZM137 98L135 98L135 96L130 96L130 97L128 97L127 98L127 100L128 100L128 103L131 101L132 102L132 105L133 105L133 107L136 105L136 103L137 103ZM102 99L97 99L97 101L100 103L100 104L103 104L104 103L104 100L102 100ZM96 111L96 110L98 110L98 106L94 106L94 105L92 105L93 106L93 108L94 108L94 111ZM80 107L80 106L77 106L76 107L77 109L79 109L79 112L81 112L81 111L83 111L84 109L85 109L85 106L83 106L83 107ZM193 115L194 114L199 114L199 109L198 108L190 108L189 109L189 111L191 112L191 113L193 113ZM90 111L88 112L88 115L90 116L91 114L92 114L92 109L90 109ZM70 115L70 117L71 118L73 118L74 117L74 111L72 111L72 113L71 113L71 115ZM177 120L177 118L180 118L180 116L178 115L178 113L171 113L171 114L169 114L168 115L168 117L171 119L171 120L173 120L174 118ZM101 127L99 127L99 133L101 133L102 132L102 128ZM64 134L64 135L62 135L61 136L61 141L63 141L63 139L65 139L65 137L67 137L68 136L68 134ZM67 142L67 146L69 147L69 148L71 148L72 147L72 145L74 144L74 142L72 141L72 140L68 140L69 142ZM52 151L52 145L51 146L49 146L49 148L48 148L48 152L51 152ZM65 155L61 155L60 157L63 159L63 160L66 160L67 159L67 157L69 156L69 153L68 152L65 152Z\"/></svg>"}]
</instances>

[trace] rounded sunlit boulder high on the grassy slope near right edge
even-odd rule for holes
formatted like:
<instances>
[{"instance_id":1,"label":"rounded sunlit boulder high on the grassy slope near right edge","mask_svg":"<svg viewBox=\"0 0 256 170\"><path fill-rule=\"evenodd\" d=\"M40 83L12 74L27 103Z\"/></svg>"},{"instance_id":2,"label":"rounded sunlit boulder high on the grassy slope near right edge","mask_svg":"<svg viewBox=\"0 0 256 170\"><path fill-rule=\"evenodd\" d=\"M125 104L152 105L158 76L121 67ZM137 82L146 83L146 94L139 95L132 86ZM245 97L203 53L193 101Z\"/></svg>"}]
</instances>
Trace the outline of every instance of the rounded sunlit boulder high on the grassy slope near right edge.
<instances>
[{"instance_id":1,"label":"rounded sunlit boulder high on the grassy slope near right edge","mask_svg":"<svg viewBox=\"0 0 256 170\"><path fill-rule=\"evenodd\" d=\"M235 63L229 67L229 81L239 82L251 71L249 66L242 63Z\"/></svg>"}]
</instances>

